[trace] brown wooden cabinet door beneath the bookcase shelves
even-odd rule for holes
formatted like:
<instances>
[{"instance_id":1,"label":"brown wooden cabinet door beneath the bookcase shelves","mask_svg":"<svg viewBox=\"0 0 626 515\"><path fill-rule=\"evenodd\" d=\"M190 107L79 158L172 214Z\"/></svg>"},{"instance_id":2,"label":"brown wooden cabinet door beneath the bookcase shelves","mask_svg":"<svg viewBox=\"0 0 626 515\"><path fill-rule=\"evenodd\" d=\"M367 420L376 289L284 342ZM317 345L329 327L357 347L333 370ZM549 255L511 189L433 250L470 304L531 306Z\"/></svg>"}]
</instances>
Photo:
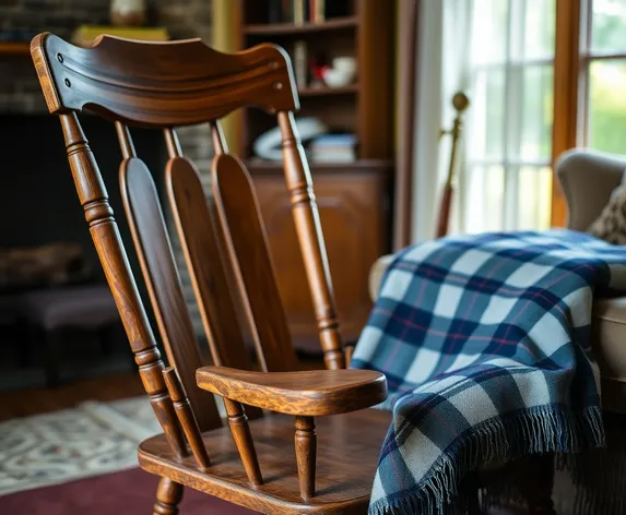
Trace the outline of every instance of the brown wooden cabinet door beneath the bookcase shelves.
<instances>
[{"instance_id":1,"label":"brown wooden cabinet door beneath the bookcase shelves","mask_svg":"<svg viewBox=\"0 0 626 515\"><path fill-rule=\"evenodd\" d=\"M314 172L314 189L327 245L345 343L361 334L371 301L369 267L387 251L385 172ZM320 351L310 292L282 173L253 176L276 279L294 344Z\"/></svg>"}]
</instances>

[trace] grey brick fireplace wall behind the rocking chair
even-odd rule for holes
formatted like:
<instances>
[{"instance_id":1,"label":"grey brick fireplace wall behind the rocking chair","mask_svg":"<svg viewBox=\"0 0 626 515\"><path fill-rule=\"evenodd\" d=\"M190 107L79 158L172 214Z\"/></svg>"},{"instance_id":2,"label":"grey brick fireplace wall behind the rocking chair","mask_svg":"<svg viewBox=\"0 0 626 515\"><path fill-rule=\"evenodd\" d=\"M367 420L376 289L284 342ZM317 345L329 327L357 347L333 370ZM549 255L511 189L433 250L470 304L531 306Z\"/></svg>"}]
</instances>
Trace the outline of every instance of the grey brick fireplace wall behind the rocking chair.
<instances>
[{"instance_id":1,"label":"grey brick fireplace wall behind the rocking chair","mask_svg":"<svg viewBox=\"0 0 626 515\"><path fill-rule=\"evenodd\" d=\"M167 27L173 39L201 37L211 40L211 0L149 0L147 4L149 23ZM107 25L109 5L110 0L0 0L0 31L32 35L48 31L70 39L79 25ZM3 113L39 112L47 112L47 108L31 59L0 57L0 125ZM196 163L205 180L212 156L208 128L181 129L179 137L185 155ZM192 320L200 332L200 316L189 276L180 266L184 260L175 237L173 245Z\"/></svg>"}]
</instances>

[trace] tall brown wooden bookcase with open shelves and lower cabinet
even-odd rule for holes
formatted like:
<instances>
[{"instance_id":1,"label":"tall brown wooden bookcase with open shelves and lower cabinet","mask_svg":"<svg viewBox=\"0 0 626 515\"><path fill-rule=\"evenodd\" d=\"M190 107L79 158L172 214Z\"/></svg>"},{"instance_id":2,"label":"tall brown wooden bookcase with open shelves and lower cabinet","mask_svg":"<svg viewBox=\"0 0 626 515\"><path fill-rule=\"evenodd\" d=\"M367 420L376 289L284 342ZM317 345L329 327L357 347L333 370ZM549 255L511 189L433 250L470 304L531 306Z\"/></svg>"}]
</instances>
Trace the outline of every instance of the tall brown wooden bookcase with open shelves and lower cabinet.
<instances>
[{"instance_id":1,"label":"tall brown wooden bookcase with open shelves and lower cabinet","mask_svg":"<svg viewBox=\"0 0 626 515\"><path fill-rule=\"evenodd\" d=\"M342 1L326 0L333 3L333 9ZM304 41L309 58L322 57L330 62L336 56L352 56L357 62L357 77L346 86L307 85L298 89L298 116L317 117L331 129L356 134L358 140L353 163L309 159L342 335L346 343L355 342L371 308L369 267L390 250L394 2L345 0L339 16L299 24L270 23L272 2L238 1L234 28L240 48L275 43L294 60L296 41ZM261 160L252 153L253 141L275 127L275 117L250 108L240 113L240 141L234 146L243 153L255 180L295 345L302 350L319 351L282 164Z\"/></svg>"}]
</instances>

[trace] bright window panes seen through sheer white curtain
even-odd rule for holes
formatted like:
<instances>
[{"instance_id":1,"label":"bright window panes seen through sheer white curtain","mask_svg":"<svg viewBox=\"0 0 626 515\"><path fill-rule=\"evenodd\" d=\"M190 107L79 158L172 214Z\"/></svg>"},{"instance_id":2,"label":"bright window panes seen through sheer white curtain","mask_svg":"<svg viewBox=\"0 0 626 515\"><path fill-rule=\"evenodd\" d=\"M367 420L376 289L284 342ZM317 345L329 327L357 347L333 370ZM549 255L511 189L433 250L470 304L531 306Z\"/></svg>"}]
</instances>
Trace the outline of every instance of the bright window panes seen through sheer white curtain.
<instances>
[{"instance_id":1,"label":"bright window panes seen through sheer white curtain","mask_svg":"<svg viewBox=\"0 0 626 515\"><path fill-rule=\"evenodd\" d=\"M460 229L546 228L556 0L474 0Z\"/></svg>"}]
</instances>

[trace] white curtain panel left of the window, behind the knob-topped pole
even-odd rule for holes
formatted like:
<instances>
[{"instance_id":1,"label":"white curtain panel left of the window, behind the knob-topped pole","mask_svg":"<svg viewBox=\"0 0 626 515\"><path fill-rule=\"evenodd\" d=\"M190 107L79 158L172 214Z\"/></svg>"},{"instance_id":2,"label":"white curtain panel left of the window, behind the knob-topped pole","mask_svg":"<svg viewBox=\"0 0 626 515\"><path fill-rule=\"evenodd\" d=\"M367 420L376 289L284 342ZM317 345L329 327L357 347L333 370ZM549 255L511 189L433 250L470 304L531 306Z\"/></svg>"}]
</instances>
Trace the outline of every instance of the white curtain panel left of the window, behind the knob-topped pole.
<instances>
[{"instance_id":1,"label":"white curtain panel left of the window, behind the knob-topped pole","mask_svg":"<svg viewBox=\"0 0 626 515\"><path fill-rule=\"evenodd\" d=\"M412 235L414 242L433 239L438 205L450 160L450 129L456 111L451 99L468 87L472 0L420 2L416 20L417 67L413 116ZM458 189L463 187L462 145L458 159ZM454 195L450 232L462 227L463 195Z\"/></svg>"}]
</instances>

